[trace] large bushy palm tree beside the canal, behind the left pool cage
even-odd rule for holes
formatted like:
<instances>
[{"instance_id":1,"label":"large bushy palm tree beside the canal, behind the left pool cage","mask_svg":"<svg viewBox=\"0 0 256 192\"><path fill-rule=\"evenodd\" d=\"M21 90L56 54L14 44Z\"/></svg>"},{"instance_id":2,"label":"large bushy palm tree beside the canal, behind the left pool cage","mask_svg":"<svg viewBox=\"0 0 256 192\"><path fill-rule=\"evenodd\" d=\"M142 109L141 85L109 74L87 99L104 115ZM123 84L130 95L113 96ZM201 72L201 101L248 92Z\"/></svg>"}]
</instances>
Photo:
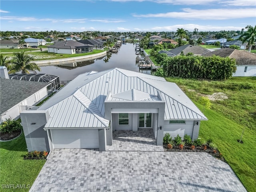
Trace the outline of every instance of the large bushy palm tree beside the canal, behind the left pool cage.
<instances>
[{"instance_id":1,"label":"large bushy palm tree beside the canal, behind the left pool cage","mask_svg":"<svg viewBox=\"0 0 256 192\"><path fill-rule=\"evenodd\" d=\"M9 73L29 73L32 71L36 73L36 70L41 71L40 67L37 66L36 63L31 62L33 57L26 55L24 51L22 52L15 52L14 58L12 59L12 64L9 66Z\"/></svg>"}]
</instances>

